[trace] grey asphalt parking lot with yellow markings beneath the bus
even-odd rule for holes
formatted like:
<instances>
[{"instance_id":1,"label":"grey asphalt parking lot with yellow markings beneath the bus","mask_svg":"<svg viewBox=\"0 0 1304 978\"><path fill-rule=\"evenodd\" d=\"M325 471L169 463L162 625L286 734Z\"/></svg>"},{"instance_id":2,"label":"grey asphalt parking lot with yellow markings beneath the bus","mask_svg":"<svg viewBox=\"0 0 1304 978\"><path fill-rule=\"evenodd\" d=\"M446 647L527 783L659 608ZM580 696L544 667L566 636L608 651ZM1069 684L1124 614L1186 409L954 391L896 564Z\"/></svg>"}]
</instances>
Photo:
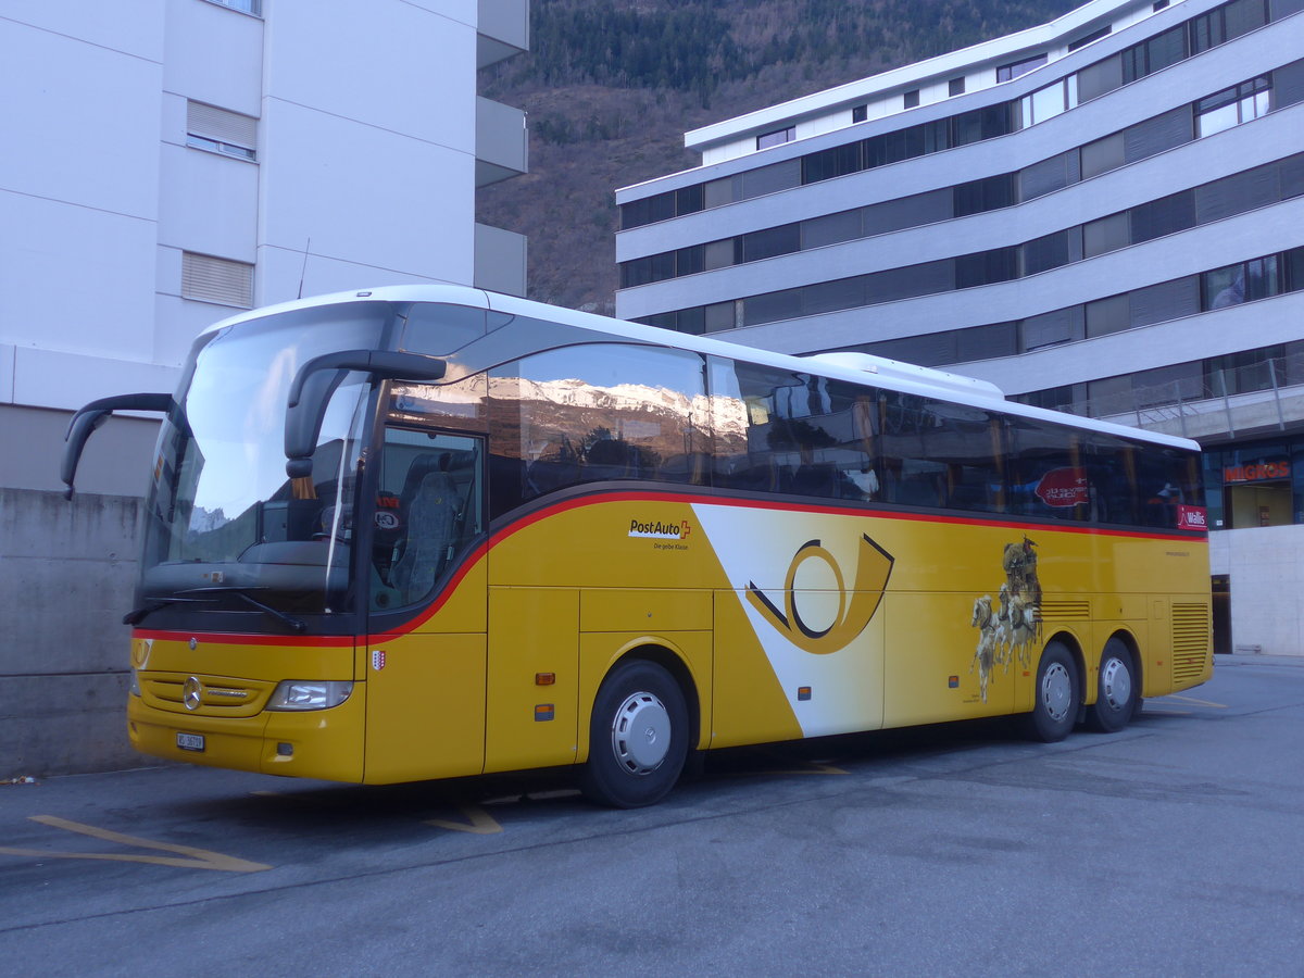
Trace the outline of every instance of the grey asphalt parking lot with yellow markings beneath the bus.
<instances>
[{"instance_id":1,"label":"grey asphalt parking lot with yellow markings beneath the bus","mask_svg":"<svg viewBox=\"0 0 1304 978\"><path fill-rule=\"evenodd\" d=\"M557 775L168 767L0 786L0 955L56 974L1304 975L1304 661L1114 735L730 751L653 808Z\"/></svg>"}]
</instances>

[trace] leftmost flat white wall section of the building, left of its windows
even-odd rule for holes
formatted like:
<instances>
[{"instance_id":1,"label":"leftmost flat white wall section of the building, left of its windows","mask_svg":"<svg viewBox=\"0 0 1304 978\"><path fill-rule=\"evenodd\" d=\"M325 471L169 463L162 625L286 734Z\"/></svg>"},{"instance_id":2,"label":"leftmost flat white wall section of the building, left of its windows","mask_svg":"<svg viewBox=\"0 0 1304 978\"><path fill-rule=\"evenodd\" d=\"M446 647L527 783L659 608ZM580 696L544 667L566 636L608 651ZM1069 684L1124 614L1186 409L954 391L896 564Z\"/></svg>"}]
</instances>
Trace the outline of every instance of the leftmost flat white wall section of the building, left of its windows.
<instances>
[{"instance_id":1,"label":"leftmost flat white wall section of the building, left of its windows","mask_svg":"<svg viewBox=\"0 0 1304 978\"><path fill-rule=\"evenodd\" d=\"M53 407L74 355L150 357L163 7L142 0L125 18L91 0L0 8L0 361L13 365L12 399Z\"/></svg>"}]
</instances>

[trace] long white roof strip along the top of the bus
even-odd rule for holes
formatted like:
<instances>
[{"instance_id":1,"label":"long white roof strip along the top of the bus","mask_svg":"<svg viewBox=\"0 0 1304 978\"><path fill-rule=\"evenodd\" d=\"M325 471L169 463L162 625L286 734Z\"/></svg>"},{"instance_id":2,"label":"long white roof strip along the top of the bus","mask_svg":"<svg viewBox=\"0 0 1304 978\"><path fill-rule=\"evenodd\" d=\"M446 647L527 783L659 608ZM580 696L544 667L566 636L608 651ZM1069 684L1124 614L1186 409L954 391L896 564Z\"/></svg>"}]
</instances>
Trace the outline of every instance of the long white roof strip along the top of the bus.
<instances>
[{"instance_id":1,"label":"long white roof strip along the top of the bus","mask_svg":"<svg viewBox=\"0 0 1304 978\"><path fill-rule=\"evenodd\" d=\"M383 286L379 288L356 289L352 292L334 292L322 296L297 299L289 303L250 309L249 312L232 316L209 326L203 333L235 326L252 319L261 319L265 316L292 312L295 309L313 309L326 305L344 305L348 303L447 303L450 305L466 305L477 309L492 309L511 316L528 316L536 319L549 319L566 326L591 330L608 336L631 339L640 343L652 343L678 349L691 349L699 353L745 360L752 364L775 366L793 370L795 373L818 373L831 379L842 379L852 383L868 383L875 387L900 391L902 394L917 394L921 396L939 398L957 404L968 404L978 408L991 408L1017 417L1039 419L1052 421L1084 430L1102 432L1127 438L1138 438L1155 445L1167 445L1176 449L1198 451L1200 446L1189 438L1146 432L1140 428L1128 428L1110 421L1098 421L1090 417L1080 417L1060 411L1020 404L1007 400L996 385L973 377L935 370L927 366L905 364L900 360L889 360L870 353L832 352L816 353L814 356L792 356L789 353L773 353L756 347L745 347L738 343L712 339L708 336L694 336L685 333L674 333L657 326L644 326L643 323L613 319L606 316L582 313L574 309L563 309L556 305L536 303L529 299L485 292L484 289L468 286ZM202 335L202 334L201 334Z\"/></svg>"}]
</instances>

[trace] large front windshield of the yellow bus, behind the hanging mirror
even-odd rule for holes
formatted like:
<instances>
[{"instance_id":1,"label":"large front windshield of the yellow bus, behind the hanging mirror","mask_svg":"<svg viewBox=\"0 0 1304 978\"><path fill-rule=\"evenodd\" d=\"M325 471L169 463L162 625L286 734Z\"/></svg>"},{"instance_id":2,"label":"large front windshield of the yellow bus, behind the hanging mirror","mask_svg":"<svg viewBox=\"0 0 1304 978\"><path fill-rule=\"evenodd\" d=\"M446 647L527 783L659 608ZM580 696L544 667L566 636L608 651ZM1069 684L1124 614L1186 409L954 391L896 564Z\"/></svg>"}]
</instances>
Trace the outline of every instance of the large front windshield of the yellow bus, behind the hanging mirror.
<instances>
[{"instance_id":1,"label":"large front windshield of the yellow bus, behind the hanging mirror","mask_svg":"<svg viewBox=\"0 0 1304 978\"><path fill-rule=\"evenodd\" d=\"M348 374L334 391L305 479L286 475L286 398L314 356L377 347L389 313L379 303L300 310L201 339L181 409L159 437L141 612L181 602L273 615L349 610L370 385Z\"/></svg>"}]
</instances>

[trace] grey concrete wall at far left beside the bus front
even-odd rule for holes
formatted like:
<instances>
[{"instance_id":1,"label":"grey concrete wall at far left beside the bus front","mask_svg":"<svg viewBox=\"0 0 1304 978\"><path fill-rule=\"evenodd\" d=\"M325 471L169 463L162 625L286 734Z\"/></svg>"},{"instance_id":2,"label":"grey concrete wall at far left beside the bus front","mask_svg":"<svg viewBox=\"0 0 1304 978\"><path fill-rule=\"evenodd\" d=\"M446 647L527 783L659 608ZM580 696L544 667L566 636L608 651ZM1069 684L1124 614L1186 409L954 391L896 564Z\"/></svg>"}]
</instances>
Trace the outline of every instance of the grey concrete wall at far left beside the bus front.
<instances>
[{"instance_id":1,"label":"grey concrete wall at far left beside the bus front","mask_svg":"<svg viewBox=\"0 0 1304 978\"><path fill-rule=\"evenodd\" d=\"M111 771L125 732L141 501L0 488L0 778Z\"/></svg>"}]
</instances>

